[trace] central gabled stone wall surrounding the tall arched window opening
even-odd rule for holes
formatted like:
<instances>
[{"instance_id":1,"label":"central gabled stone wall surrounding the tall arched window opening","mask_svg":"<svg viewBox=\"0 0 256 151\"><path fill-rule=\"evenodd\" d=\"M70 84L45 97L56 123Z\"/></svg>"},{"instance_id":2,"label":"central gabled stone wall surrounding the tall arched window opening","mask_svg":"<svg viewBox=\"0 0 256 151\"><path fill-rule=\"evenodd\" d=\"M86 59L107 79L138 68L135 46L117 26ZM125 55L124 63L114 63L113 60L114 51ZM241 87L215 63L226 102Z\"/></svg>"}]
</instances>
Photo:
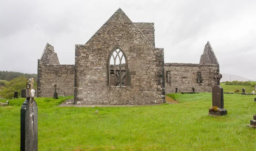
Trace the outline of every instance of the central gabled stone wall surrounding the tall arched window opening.
<instances>
[{"instance_id":1,"label":"central gabled stone wall surrounding the tall arched window opening","mask_svg":"<svg viewBox=\"0 0 256 151\"><path fill-rule=\"evenodd\" d=\"M130 84L108 86L111 52L121 49L126 56ZM118 9L85 45L76 45L76 104L163 103L163 49L154 48L140 29ZM128 81L127 81L128 82Z\"/></svg>"}]
</instances>

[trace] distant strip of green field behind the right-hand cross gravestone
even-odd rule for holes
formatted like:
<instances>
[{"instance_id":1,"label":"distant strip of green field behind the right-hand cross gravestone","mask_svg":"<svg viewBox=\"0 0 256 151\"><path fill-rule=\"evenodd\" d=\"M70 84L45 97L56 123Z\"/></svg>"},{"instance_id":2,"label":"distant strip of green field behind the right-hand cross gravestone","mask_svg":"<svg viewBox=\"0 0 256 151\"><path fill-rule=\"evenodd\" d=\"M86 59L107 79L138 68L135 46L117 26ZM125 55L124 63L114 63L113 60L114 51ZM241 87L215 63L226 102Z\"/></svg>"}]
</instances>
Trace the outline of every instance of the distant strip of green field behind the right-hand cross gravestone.
<instances>
[{"instance_id":1,"label":"distant strip of green field behind the right-hand cross gravestone","mask_svg":"<svg viewBox=\"0 0 256 151\"><path fill-rule=\"evenodd\" d=\"M255 81L251 81L251 83L256 83ZM235 92L236 89L239 90L239 93L242 93L242 89L244 87L245 93L252 93L255 90L255 87L247 86L247 85L225 85L225 83L220 84L223 87L224 92Z\"/></svg>"}]
</instances>

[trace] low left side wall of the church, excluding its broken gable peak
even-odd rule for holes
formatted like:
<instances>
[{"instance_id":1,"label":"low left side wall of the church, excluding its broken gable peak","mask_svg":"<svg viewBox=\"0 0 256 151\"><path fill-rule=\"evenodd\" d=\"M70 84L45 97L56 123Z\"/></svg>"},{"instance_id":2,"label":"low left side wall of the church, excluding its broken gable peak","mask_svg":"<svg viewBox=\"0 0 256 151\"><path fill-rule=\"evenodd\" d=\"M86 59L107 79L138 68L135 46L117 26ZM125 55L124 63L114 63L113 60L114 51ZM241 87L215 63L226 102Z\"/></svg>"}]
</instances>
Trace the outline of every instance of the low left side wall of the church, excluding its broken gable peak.
<instances>
[{"instance_id":1,"label":"low left side wall of the church, excluding its broken gable peak","mask_svg":"<svg viewBox=\"0 0 256 151\"><path fill-rule=\"evenodd\" d=\"M58 96L74 95L74 65L39 64L38 60L38 97L53 97L54 84Z\"/></svg>"}]
</instances>

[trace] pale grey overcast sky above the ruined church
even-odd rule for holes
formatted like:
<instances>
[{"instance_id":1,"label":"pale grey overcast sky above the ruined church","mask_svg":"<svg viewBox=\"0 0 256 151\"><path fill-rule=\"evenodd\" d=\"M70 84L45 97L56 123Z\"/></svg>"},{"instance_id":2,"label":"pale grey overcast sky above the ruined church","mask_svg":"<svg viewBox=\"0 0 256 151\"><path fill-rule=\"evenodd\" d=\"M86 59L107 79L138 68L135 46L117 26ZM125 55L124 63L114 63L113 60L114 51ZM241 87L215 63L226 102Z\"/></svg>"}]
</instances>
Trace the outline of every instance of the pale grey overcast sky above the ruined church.
<instances>
[{"instance_id":1,"label":"pale grey overcast sky above the ruined church","mask_svg":"<svg viewBox=\"0 0 256 151\"><path fill-rule=\"evenodd\" d=\"M220 72L256 79L256 0L0 0L0 70L37 73L47 43L61 64L119 9L153 22L165 62L199 63L210 42Z\"/></svg>"}]
</instances>

